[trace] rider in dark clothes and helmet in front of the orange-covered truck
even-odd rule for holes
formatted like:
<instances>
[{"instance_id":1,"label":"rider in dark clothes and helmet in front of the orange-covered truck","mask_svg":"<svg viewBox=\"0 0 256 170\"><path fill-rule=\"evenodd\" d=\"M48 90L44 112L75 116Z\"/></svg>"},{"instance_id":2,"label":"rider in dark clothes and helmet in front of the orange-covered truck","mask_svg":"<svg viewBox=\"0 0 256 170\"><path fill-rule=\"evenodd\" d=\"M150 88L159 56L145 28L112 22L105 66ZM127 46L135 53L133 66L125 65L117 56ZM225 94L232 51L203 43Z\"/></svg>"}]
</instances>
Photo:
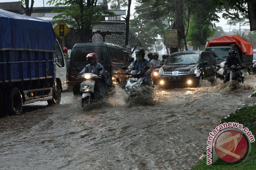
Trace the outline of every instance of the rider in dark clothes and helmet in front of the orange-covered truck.
<instances>
[{"instance_id":1,"label":"rider in dark clothes and helmet in front of the orange-covered truck","mask_svg":"<svg viewBox=\"0 0 256 170\"><path fill-rule=\"evenodd\" d=\"M229 68L232 66L232 65L240 65L241 67L243 67L243 64L241 62L241 60L239 59L239 57L236 57L236 50L235 49L232 49L229 51L229 54L230 56L227 57L227 60L225 62L225 72L226 72L226 75L225 75L225 79L224 79L224 82L228 82L230 81L230 71L229 71Z\"/></svg>"}]
</instances>

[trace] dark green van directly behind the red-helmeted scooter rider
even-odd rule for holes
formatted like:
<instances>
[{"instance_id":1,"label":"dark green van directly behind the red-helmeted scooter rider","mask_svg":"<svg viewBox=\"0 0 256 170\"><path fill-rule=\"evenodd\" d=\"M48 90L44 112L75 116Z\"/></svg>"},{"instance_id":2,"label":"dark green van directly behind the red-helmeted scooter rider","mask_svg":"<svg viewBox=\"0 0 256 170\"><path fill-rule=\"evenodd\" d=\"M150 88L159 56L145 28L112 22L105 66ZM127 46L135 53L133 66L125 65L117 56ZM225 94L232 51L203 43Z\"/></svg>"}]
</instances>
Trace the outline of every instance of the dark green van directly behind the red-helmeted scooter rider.
<instances>
[{"instance_id":1,"label":"dark green van directly behind the red-helmeted scooter rider","mask_svg":"<svg viewBox=\"0 0 256 170\"><path fill-rule=\"evenodd\" d=\"M111 43L81 43L75 44L71 55L68 68L68 85L73 86L73 93L79 94L80 83L76 80L80 70L82 70L89 62L86 56L89 53L98 54L98 62L108 71L111 77L111 85L125 85L127 76L122 70L123 66L130 65L131 59L125 48Z\"/></svg>"}]
</instances>

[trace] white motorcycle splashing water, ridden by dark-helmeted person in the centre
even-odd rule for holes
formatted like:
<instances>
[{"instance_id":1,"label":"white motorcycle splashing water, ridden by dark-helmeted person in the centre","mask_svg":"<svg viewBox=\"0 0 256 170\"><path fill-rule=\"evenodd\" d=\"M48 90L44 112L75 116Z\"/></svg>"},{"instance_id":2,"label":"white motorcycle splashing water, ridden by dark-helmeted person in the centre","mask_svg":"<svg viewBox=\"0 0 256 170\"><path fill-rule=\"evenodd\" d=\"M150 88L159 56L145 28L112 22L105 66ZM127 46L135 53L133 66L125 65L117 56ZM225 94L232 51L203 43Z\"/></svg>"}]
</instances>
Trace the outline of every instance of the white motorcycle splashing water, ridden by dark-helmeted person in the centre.
<instances>
[{"instance_id":1,"label":"white motorcycle splashing water, ridden by dark-helmeted person in the centre","mask_svg":"<svg viewBox=\"0 0 256 170\"><path fill-rule=\"evenodd\" d=\"M128 67L122 67L123 70L127 70ZM125 91L128 94L128 99L148 99L150 95L153 94L153 88L151 87L152 83L150 83L150 86L143 84L143 77L145 77L145 71L149 69L148 66L145 66L143 68L143 71L139 70L132 70L131 72L128 72L127 75L130 76L130 78L127 80L127 83L125 85ZM148 94L148 95L145 95Z\"/></svg>"}]
</instances>

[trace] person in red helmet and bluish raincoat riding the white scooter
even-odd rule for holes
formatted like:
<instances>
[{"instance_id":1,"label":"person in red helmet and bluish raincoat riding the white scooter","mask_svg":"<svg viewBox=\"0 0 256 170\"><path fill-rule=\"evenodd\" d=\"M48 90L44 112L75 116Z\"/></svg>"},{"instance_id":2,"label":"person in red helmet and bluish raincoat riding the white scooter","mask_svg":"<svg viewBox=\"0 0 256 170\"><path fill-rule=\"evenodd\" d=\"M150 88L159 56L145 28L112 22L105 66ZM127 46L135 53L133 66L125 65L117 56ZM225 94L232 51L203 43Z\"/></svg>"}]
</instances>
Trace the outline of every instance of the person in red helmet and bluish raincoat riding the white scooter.
<instances>
[{"instance_id":1,"label":"person in red helmet and bluish raincoat riding the white scooter","mask_svg":"<svg viewBox=\"0 0 256 170\"><path fill-rule=\"evenodd\" d=\"M99 78L99 92L103 96L106 93L106 82L109 84L109 74L99 62L97 62L98 55L96 53L89 53L86 56L86 59L90 64L86 65L82 71L79 73L78 77L81 77L84 73L92 73L98 75ZM99 68L102 68L102 71L98 71Z\"/></svg>"}]
</instances>

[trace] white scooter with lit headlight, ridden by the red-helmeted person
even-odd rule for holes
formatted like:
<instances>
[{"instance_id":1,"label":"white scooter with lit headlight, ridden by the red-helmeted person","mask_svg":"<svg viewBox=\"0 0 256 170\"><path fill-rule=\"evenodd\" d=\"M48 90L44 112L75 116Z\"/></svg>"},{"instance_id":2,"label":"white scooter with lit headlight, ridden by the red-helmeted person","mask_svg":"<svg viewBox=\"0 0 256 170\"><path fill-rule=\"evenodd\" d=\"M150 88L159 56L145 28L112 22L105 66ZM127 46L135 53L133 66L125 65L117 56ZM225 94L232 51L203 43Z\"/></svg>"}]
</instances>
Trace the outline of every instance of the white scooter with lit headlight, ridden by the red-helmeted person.
<instances>
[{"instance_id":1,"label":"white scooter with lit headlight, ridden by the red-helmeted person","mask_svg":"<svg viewBox=\"0 0 256 170\"><path fill-rule=\"evenodd\" d=\"M102 68L99 68L98 71L102 71ZM77 79L83 80L80 85L82 108L86 109L90 104L104 99L104 96L99 92L99 79L101 77L98 77L96 74L85 73Z\"/></svg>"}]
</instances>

